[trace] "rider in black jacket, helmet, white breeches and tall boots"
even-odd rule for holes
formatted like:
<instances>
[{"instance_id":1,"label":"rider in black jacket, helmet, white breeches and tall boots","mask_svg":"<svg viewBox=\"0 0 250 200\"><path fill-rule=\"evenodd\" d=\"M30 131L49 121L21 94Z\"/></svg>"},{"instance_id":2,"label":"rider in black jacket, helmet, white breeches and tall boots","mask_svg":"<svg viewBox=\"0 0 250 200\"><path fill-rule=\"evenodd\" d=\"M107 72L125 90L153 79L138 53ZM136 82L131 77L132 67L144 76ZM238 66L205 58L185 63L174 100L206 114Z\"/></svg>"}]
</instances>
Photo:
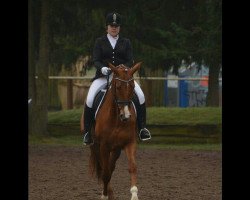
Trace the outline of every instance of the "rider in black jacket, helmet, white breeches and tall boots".
<instances>
[{"instance_id":1,"label":"rider in black jacket, helmet, white breeches and tall boots","mask_svg":"<svg viewBox=\"0 0 250 200\"><path fill-rule=\"evenodd\" d=\"M85 145L93 144L91 137L91 123L94 120L93 101L96 94L107 84L105 76L109 74L108 62L117 66L123 64L127 67L133 65L133 54L130 40L119 35L121 26L121 15L112 12L106 16L107 34L99 37L95 41L93 50L93 61L96 67L96 74L89 88L87 99L84 106L84 138ZM110 80L112 79L110 76ZM136 105L137 122L139 130L139 138L142 141L151 138L150 132L146 126L146 106L145 96L138 83L135 82L135 93L138 97Z\"/></svg>"}]
</instances>

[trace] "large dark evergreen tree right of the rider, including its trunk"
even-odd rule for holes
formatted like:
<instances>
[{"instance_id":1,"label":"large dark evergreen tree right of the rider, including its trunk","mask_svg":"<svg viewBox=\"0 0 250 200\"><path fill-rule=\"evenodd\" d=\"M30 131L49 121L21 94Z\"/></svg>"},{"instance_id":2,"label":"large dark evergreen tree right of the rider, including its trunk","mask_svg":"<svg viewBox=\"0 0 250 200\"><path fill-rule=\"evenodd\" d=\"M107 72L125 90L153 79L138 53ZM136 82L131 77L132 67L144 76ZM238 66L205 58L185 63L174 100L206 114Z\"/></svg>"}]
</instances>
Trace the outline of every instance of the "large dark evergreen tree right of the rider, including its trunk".
<instances>
[{"instance_id":1,"label":"large dark evergreen tree right of the rider, including its trunk","mask_svg":"<svg viewBox=\"0 0 250 200\"><path fill-rule=\"evenodd\" d=\"M209 67L207 106L219 104L222 66L221 0L139 0L126 10L126 34L132 38L135 57L151 69L174 69L185 61Z\"/></svg>"}]
</instances>

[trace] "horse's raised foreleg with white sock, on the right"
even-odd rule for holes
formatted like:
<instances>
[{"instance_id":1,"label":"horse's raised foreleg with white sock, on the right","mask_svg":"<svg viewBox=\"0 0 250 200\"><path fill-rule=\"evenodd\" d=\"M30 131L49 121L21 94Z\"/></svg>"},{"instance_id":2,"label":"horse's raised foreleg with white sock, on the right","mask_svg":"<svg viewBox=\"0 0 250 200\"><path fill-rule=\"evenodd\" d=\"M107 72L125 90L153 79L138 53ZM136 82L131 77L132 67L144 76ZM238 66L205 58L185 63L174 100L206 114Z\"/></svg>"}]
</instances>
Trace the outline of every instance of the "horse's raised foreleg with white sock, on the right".
<instances>
[{"instance_id":1,"label":"horse's raised foreleg with white sock, on the right","mask_svg":"<svg viewBox=\"0 0 250 200\"><path fill-rule=\"evenodd\" d=\"M138 189L136 187L137 184L137 166L135 162L135 154L136 154L136 143L131 143L125 148L125 152L128 158L129 164L129 173L131 177L131 189L130 192L132 194L131 200L138 200Z\"/></svg>"}]
</instances>

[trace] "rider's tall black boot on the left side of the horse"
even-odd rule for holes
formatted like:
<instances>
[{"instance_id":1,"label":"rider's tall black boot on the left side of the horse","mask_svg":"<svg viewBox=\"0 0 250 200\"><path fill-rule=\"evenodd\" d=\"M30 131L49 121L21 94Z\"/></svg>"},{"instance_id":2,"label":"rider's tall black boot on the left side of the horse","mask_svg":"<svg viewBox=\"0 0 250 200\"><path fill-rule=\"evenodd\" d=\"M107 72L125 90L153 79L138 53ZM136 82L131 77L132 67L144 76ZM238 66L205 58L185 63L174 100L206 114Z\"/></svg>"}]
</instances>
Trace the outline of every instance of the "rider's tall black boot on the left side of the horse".
<instances>
[{"instance_id":1,"label":"rider's tall black boot on the left side of the horse","mask_svg":"<svg viewBox=\"0 0 250 200\"><path fill-rule=\"evenodd\" d=\"M90 145L93 144L94 141L91 137L91 126L94 120L94 111L92 108L89 108L86 104L84 107L84 137L83 144Z\"/></svg>"}]
</instances>

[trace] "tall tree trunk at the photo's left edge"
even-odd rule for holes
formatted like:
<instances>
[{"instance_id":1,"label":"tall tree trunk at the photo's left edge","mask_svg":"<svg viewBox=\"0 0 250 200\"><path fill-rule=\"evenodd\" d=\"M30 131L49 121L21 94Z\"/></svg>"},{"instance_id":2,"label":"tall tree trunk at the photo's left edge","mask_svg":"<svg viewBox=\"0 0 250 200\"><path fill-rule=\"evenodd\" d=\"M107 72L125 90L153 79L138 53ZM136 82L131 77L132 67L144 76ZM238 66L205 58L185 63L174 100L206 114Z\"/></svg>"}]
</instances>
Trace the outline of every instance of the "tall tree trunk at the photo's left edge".
<instances>
[{"instance_id":1,"label":"tall tree trunk at the photo's left edge","mask_svg":"<svg viewBox=\"0 0 250 200\"><path fill-rule=\"evenodd\" d=\"M41 1L39 60L37 64L36 97L32 109L32 132L47 134L49 75L49 0Z\"/></svg>"}]
</instances>

